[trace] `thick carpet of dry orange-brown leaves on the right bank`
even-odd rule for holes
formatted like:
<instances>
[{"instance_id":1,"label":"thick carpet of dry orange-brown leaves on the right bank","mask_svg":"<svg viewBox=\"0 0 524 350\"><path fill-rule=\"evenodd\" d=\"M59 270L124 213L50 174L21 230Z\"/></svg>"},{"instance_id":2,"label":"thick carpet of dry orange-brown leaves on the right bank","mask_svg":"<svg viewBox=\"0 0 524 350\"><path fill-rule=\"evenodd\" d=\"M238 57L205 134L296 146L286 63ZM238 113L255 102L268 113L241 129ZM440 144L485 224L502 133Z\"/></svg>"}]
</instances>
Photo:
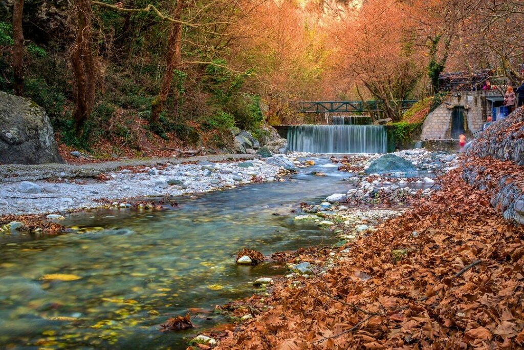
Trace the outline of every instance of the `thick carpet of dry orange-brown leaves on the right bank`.
<instances>
[{"instance_id":1,"label":"thick carpet of dry orange-brown leaves on the right bank","mask_svg":"<svg viewBox=\"0 0 524 350\"><path fill-rule=\"evenodd\" d=\"M324 275L277 283L255 305L265 311L219 348L524 347L524 229L464 184L461 169L442 184L348 245Z\"/></svg>"}]
</instances>

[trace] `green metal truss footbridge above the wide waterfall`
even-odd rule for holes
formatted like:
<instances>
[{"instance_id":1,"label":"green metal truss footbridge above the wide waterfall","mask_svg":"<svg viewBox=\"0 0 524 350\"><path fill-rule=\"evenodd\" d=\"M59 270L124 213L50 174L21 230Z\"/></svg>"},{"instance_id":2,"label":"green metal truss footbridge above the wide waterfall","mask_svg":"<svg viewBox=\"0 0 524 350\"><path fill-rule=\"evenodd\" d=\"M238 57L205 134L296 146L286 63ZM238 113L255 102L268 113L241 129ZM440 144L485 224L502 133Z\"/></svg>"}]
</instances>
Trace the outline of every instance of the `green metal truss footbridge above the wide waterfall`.
<instances>
[{"instance_id":1,"label":"green metal truss footbridge above the wide waterfall","mask_svg":"<svg viewBox=\"0 0 524 350\"><path fill-rule=\"evenodd\" d=\"M407 110L418 100L402 100L401 109ZM380 112L384 101L297 101L290 105L300 113L363 113L368 110Z\"/></svg>"}]
</instances>

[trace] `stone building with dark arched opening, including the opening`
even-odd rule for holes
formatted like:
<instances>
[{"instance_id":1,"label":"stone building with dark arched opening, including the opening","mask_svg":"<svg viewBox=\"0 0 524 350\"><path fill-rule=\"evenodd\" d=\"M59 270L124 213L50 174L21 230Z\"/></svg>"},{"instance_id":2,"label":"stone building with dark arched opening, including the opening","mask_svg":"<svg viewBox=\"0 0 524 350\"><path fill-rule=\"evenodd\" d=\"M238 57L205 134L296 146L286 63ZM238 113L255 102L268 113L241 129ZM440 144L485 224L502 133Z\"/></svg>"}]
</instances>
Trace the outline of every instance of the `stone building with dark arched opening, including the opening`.
<instances>
[{"instance_id":1,"label":"stone building with dark arched opening, including the opening","mask_svg":"<svg viewBox=\"0 0 524 350\"><path fill-rule=\"evenodd\" d=\"M498 90L477 90L452 92L429 113L422 125L421 140L457 139L464 133L473 139L475 133L482 130L482 125L492 108L499 107L504 98Z\"/></svg>"}]
</instances>

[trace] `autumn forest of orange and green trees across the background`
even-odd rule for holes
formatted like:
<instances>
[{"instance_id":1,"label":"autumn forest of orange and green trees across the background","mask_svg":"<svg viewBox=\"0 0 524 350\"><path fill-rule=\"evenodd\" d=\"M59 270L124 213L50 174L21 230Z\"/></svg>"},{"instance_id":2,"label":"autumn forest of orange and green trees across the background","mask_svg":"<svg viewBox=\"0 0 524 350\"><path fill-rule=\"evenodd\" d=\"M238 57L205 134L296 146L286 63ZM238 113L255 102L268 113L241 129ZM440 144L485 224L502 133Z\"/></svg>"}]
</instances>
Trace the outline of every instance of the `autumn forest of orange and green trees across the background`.
<instances>
[{"instance_id":1,"label":"autumn forest of orange and green trees across the background","mask_svg":"<svg viewBox=\"0 0 524 350\"><path fill-rule=\"evenodd\" d=\"M15 0L0 16L0 87L31 98L62 142L140 132L226 147L227 129L306 122L290 103L399 101L444 71L520 84L517 0Z\"/></svg>"}]
</instances>

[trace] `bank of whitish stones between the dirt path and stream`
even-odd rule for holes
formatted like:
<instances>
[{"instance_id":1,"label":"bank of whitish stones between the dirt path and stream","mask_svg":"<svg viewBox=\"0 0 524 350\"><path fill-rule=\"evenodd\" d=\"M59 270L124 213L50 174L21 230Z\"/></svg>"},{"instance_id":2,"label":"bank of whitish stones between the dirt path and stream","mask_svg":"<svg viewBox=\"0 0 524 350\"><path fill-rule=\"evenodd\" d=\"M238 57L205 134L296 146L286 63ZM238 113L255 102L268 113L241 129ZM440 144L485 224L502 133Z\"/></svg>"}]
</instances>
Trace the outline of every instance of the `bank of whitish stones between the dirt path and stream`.
<instances>
[{"instance_id":1,"label":"bank of whitish stones between the dirt path and stream","mask_svg":"<svg viewBox=\"0 0 524 350\"><path fill-rule=\"evenodd\" d=\"M0 216L51 214L49 218L56 220L61 214L73 210L101 206L129 208L140 198L175 201L176 197L184 195L256 182L285 181L290 171L302 166L293 154L262 159L250 157L233 162L227 158L199 157L189 164L174 164L171 160L156 162L156 166L124 163L115 167L112 164L112 169L107 172L100 171L108 168L104 164L70 166L59 174L53 169L45 179L35 181L29 181L32 179L28 175L16 176L10 172L10 177L4 177L0 183ZM29 167L30 175L35 166ZM20 181L23 179L25 181Z\"/></svg>"}]
</instances>

